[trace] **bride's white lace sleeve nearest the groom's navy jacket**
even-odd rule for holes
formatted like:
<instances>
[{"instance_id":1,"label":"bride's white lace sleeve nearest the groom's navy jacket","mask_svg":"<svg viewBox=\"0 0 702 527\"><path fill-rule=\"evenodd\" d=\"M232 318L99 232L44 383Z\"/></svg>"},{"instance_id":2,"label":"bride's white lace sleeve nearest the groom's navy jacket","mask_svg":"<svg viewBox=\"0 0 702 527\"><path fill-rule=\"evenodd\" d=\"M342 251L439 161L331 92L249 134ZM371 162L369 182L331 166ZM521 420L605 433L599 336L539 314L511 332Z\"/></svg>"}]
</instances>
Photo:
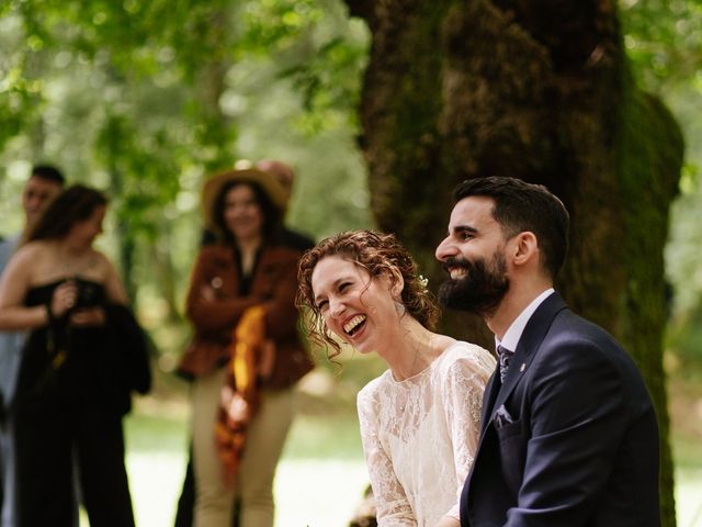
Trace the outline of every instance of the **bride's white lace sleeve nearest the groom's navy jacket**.
<instances>
[{"instance_id":1,"label":"bride's white lace sleeve nearest the groom's navy jacket","mask_svg":"<svg viewBox=\"0 0 702 527\"><path fill-rule=\"evenodd\" d=\"M442 400L458 486L456 502L445 515L457 519L461 492L478 447L483 393L495 368L495 359L485 349L471 346L467 357L464 354L446 366Z\"/></svg>"}]
</instances>

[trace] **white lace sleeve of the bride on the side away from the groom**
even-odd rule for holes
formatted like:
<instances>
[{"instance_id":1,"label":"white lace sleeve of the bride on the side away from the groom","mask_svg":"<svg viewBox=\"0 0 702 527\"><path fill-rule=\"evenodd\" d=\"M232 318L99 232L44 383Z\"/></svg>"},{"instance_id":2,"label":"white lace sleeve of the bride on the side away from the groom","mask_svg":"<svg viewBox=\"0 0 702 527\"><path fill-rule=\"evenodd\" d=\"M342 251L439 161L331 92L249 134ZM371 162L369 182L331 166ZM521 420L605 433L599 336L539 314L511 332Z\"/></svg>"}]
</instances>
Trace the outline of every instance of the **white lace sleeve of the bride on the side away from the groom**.
<instances>
[{"instance_id":1,"label":"white lace sleeve of the bride on the side away from the groom","mask_svg":"<svg viewBox=\"0 0 702 527\"><path fill-rule=\"evenodd\" d=\"M371 478L378 527L415 527L417 522L397 480L390 458L383 445L378 429L378 401L373 384L365 386L358 396L359 424L365 464Z\"/></svg>"}]
</instances>

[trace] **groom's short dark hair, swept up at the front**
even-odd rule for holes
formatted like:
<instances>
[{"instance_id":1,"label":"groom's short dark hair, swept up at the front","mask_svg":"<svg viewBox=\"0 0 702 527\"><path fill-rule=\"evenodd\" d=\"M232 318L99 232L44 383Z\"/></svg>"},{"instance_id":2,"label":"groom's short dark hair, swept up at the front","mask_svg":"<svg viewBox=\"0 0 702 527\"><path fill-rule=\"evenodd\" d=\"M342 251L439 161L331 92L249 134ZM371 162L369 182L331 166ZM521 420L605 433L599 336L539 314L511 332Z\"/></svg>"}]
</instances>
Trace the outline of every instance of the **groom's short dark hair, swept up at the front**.
<instances>
[{"instance_id":1,"label":"groom's short dark hair, swept up at the front","mask_svg":"<svg viewBox=\"0 0 702 527\"><path fill-rule=\"evenodd\" d=\"M542 265L555 280L568 251L568 211L546 187L517 178L487 177L468 179L454 192L455 203L471 195L492 199L492 217L506 238L530 231L539 240Z\"/></svg>"}]
</instances>

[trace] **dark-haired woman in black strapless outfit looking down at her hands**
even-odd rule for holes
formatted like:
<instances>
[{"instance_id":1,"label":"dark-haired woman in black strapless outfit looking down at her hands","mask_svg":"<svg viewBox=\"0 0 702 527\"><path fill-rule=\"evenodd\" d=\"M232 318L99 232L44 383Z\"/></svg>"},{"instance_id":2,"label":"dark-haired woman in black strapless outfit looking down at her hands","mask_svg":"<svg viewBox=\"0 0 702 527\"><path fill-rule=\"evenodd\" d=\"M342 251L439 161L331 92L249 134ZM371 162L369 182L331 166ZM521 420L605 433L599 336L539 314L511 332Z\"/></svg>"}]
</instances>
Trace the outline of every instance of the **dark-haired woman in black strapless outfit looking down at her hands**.
<instances>
[{"instance_id":1,"label":"dark-haired woman in black strapless outfit looking down at her hands","mask_svg":"<svg viewBox=\"0 0 702 527\"><path fill-rule=\"evenodd\" d=\"M92 247L106 205L88 187L65 190L0 282L0 329L31 332L10 413L20 527L77 524L76 468L91 526L134 525L122 430L133 365L116 345L144 339L116 270Z\"/></svg>"}]
</instances>

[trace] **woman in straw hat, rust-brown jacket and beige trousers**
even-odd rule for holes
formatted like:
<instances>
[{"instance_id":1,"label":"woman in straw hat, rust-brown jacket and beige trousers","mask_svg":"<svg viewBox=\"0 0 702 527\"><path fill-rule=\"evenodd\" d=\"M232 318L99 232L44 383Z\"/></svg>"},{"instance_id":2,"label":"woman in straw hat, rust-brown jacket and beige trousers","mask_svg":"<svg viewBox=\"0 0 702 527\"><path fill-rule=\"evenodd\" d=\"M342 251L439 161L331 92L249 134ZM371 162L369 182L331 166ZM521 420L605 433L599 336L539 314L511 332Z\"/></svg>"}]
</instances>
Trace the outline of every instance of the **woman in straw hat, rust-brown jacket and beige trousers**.
<instances>
[{"instance_id":1,"label":"woman in straw hat, rust-brown jacket and beige trousers","mask_svg":"<svg viewBox=\"0 0 702 527\"><path fill-rule=\"evenodd\" d=\"M193 379L193 524L231 526L236 498L240 527L272 527L273 476L293 417L293 385L312 369L297 335L298 253L276 243L286 194L271 176L246 169L211 178L202 198L218 243L201 249L192 271L186 315L194 337L179 367ZM247 355L253 379L231 362L249 340L261 344ZM236 399L245 384L256 401L249 391ZM246 412L237 413L233 401Z\"/></svg>"}]
</instances>

